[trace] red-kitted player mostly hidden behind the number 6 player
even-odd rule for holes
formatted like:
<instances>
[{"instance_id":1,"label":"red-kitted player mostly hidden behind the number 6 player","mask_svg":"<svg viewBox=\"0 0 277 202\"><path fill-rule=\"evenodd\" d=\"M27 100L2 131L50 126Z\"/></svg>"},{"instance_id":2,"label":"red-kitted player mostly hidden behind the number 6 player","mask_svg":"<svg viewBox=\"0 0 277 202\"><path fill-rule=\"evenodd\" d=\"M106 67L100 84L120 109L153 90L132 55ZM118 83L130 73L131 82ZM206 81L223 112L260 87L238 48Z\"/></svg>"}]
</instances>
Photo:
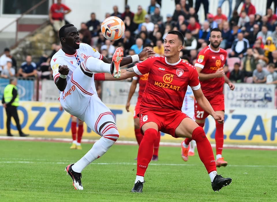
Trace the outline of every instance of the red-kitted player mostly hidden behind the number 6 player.
<instances>
[{"instance_id":1,"label":"red-kitted player mostly hidden behind the number 6 player","mask_svg":"<svg viewBox=\"0 0 277 202\"><path fill-rule=\"evenodd\" d=\"M134 76L133 77L133 81L130 87L130 91L128 94L128 99L127 99L127 103L126 103L126 110L129 112L129 107L130 107L130 100L132 98L132 96L134 95L134 92L136 90L136 85L139 84L139 96L138 96L138 100L136 102L136 107L134 110L134 128L135 128L135 136L136 136L136 141L138 142L138 144L140 145L141 140L143 139L143 134L141 134L141 130L139 127L139 117L137 116L137 114L139 113L139 106L141 105L141 98L143 95L143 92L145 90L145 86L148 80L148 73L144 74L144 75L139 75L139 76ZM158 160L158 152L159 152L159 145L160 145L160 139L161 139L161 133L160 131L158 132L158 136L157 139L154 142L154 152L153 152L153 156L152 156L152 160L153 161L157 161Z\"/></svg>"}]
</instances>

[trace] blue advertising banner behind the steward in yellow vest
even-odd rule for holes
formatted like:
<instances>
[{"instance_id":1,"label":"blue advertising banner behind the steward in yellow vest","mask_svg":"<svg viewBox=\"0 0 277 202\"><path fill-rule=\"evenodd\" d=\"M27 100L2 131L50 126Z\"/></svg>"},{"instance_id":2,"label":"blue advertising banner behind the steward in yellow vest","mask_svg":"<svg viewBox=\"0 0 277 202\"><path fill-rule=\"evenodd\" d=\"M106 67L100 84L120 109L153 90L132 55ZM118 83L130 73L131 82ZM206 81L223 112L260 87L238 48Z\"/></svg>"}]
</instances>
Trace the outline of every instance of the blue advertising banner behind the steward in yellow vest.
<instances>
[{"instance_id":1,"label":"blue advertising banner behind the steward in yellow vest","mask_svg":"<svg viewBox=\"0 0 277 202\"><path fill-rule=\"evenodd\" d=\"M17 88L19 99L22 101L31 101L33 100L34 95L34 82L33 80L21 80L17 81ZM0 99L3 97L4 88L10 83L10 80L7 78L0 78Z\"/></svg>"}]
</instances>

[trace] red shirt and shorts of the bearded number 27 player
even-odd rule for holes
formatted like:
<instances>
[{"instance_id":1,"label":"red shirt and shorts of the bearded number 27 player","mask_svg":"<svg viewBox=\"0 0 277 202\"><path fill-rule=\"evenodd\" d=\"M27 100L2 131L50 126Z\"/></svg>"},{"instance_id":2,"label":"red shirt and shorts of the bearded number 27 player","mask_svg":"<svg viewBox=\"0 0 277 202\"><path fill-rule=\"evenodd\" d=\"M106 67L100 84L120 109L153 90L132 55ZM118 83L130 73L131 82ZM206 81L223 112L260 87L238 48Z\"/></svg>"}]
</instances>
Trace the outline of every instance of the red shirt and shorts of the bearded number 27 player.
<instances>
[{"instance_id":1,"label":"red shirt and shorts of the bearded number 27 player","mask_svg":"<svg viewBox=\"0 0 277 202\"><path fill-rule=\"evenodd\" d=\"M224 67L226 57L227 52L224 49L219 48L218 51L213 51L210 46L207 46L199 52L194 66L202 68L201 73L203 74L212 74L219 68ZM224 111L224 77L200 81L200 84L204 96L210 102L214 111ZM205 119L209 115L197 102L194 105L194 114L196 119Z\"/></svg>"}]
</instances>

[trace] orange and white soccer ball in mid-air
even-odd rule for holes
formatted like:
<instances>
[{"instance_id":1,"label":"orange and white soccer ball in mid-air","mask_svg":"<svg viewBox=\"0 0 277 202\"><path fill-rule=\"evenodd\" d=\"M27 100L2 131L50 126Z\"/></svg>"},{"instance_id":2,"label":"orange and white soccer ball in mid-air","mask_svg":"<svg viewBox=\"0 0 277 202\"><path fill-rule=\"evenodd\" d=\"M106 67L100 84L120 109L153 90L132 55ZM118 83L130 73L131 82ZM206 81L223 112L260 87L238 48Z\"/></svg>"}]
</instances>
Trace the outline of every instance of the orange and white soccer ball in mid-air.
<instances>
[{"instance_id":1,"label":"orange and white soccer ball in mid-air","mask_svg":"<svg viewBox=\"0 0 277 202\"><path fill-rule=\"evenodd\" d=\"M103 21L101 31L106 39L116 41L124 35L125 25L119 17L111 16Z\"/></svg>"}]
</instances>

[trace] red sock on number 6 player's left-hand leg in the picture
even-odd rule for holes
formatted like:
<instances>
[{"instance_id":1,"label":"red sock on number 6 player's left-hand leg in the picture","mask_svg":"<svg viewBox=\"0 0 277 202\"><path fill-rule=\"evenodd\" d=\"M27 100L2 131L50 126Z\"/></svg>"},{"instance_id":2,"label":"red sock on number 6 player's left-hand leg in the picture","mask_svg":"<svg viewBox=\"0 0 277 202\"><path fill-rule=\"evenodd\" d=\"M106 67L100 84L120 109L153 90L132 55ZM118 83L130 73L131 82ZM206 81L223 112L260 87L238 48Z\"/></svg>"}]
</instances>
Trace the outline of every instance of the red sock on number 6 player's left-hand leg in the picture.
<instances>
[{"instance_id":1,"label":"red sock on number 6 player's left-hand leg in the picture","mask_svg":"<svg viewBox=\"0 0 277 202\"><path fill-rule=\"evenodd\" d=\"M149 128L145 130L141 144L138 151L138 162L136 165L136 175L144 176L149 162L153 156L154 142L157 139L158 131Z\"/></svg>"}]
</instances>

